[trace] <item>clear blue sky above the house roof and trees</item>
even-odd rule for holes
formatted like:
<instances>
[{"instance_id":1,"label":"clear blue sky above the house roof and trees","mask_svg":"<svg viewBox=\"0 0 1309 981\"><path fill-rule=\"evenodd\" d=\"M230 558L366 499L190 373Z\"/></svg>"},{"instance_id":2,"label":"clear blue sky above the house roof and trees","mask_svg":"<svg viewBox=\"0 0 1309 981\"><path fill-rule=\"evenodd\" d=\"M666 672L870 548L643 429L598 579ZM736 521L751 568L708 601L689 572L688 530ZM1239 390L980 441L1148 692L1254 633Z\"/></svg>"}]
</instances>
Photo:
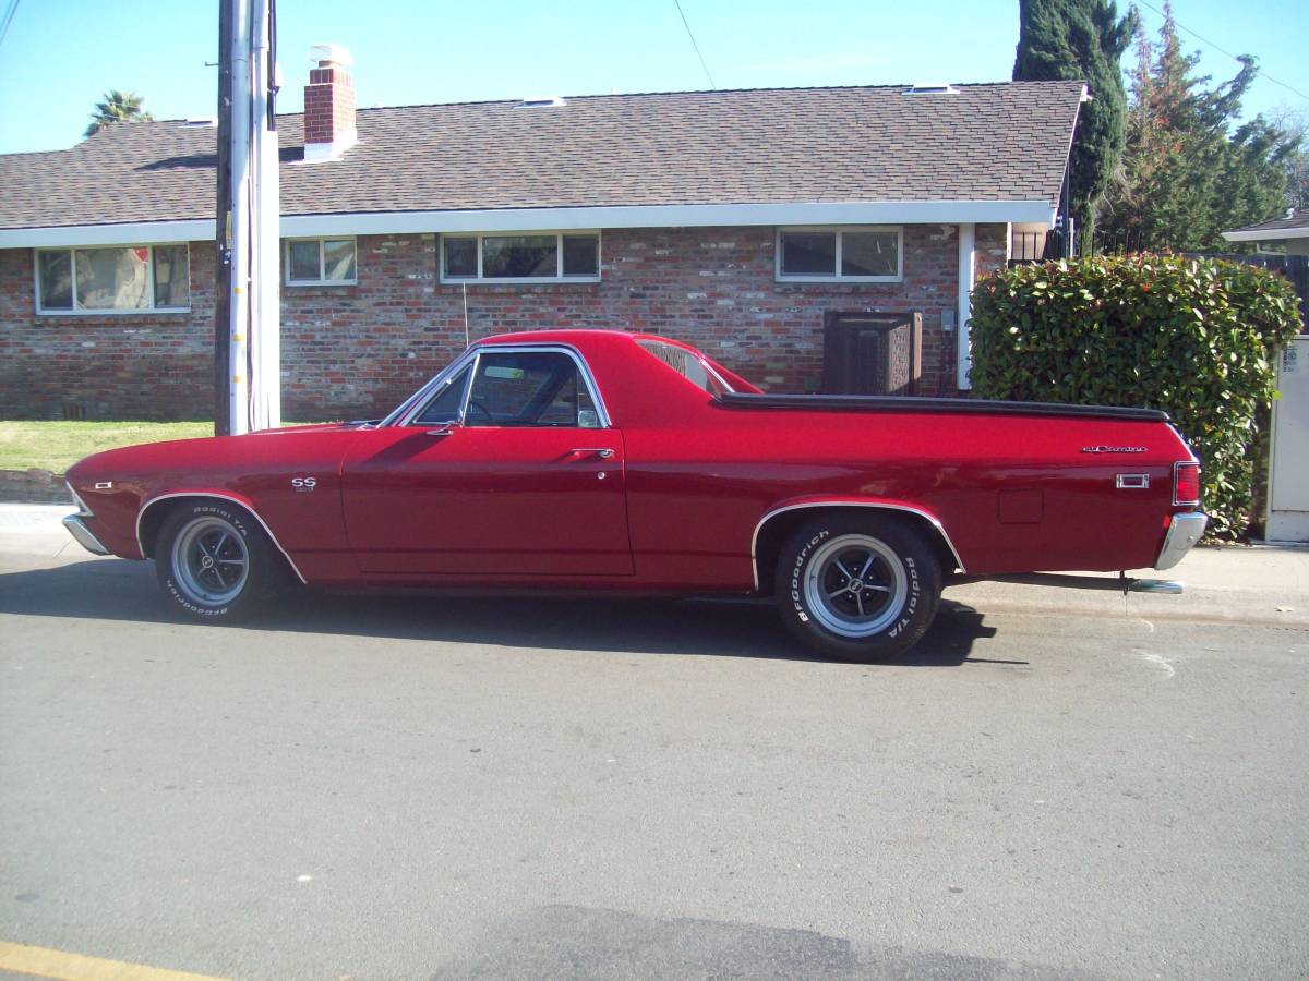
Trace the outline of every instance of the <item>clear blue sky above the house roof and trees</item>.
<instances>
[{"instance_id":1,"label":"clear blue sky above the house roof and trees","mask_svg":"<svg viewBox=\"0 0 1309 981\"><path fill-rule=\"evenodd\" d=\"M0 13L9 0L0 0ZM1162 0L1151 0L1161 7ZM1124 9L1122 0L1119 8ZM997 81L1017 0L682 0L717 88ZM1143 9L1147 26L1160 17ZM1177 20L1309 94L1309 0L1177 0ZM709 88L673 0L279 0L279 111L298 111L309 46L355 55L360 106ZM1215 77L1229 58L1183 33ZM0 152L81 139L105 89L161 119L215 115L216 0L20 0L0 44ZM1249 114L1309 99L1261 78Z\"/></svg>"}]
</instances>

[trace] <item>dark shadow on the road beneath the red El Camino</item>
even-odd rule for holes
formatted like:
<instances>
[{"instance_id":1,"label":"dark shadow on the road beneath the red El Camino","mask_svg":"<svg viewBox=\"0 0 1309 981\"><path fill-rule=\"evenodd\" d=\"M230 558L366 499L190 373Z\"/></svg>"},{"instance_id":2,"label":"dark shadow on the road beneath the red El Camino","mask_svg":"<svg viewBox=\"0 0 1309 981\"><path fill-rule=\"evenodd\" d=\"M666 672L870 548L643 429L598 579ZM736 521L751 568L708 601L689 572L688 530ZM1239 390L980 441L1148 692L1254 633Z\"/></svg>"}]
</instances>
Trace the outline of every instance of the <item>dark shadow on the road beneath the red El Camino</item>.
<instances>
[{"instance_id":1,"label":"dark shadow on the road beneath the red El Camino","mask_svg":"<svg viewBox=\"0 0 1309 981\"><path fill-rule=\"evenodd\" d=\"M182 620L161 595L153 572L148 562L89 560L0 574L0 613L217 629ZM628 654L825 659L793 640L767 602L296 589L241 629ZM880 663L954 667L969 661L978 638L992 636L995 629L975 610L942 600L927 636L908 653Z\"/></svg>"}]
</instances>

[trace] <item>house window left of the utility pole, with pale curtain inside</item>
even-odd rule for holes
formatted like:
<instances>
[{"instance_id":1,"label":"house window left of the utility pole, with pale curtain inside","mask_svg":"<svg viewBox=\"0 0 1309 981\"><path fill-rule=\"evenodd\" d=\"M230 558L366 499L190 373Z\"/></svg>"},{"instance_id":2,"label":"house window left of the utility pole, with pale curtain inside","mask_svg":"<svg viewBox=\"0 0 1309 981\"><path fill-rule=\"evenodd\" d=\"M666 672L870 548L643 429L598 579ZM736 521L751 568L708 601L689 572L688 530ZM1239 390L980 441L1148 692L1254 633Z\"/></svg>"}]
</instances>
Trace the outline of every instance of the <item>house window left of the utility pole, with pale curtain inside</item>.
<instances>
[{"instance_id":1,"label":"house window left of the utility pole, with pale curtain inside","mask_svg":"<svg viewBox=\"0 0 1309 981\"><path fill-rule=\"evenodd\" d=\"M38 313L190 309L191 263L186 243L37 250Z\"/></svg>"}]
</instances>

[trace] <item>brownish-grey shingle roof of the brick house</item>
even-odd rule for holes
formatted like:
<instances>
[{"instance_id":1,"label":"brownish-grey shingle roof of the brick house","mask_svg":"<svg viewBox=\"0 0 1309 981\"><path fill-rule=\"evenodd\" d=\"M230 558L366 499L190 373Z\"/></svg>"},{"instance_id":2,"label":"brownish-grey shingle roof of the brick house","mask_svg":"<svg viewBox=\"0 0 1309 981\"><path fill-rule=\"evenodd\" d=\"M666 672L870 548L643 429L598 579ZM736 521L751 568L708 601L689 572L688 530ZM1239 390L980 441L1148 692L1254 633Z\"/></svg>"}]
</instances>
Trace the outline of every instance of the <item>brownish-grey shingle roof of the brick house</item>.
<instances>
[{"instance_id":1,"label":"brownish-grey shingle roof of the brick house","mask_svg":"<svg viewBox=\"0 0 1309 981\"><path fill-rule=\"evenodd\" d=\"M278 118L281 213L818 201L1045 200L1081 82L753 89L361 109L359 144L304 164ZM0 228L208 218L215 139L118 124L0 156Z\"/></svg>"}]
</instances>

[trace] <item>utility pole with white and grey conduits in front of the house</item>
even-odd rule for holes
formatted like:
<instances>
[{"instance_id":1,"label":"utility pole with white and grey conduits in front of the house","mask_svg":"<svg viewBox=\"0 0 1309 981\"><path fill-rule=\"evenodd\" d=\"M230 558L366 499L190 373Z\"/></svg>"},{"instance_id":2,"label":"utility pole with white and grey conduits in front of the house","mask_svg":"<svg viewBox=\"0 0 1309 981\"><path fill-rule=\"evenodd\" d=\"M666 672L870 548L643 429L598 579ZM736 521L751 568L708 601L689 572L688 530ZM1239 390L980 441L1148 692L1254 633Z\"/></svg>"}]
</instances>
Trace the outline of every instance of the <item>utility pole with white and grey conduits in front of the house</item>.
<instances>
[{"instance_id":1,"label":"utility pole with white and grey conduits in front of the house","mask_svg":"<svg viewBox=\"0 0 1309 981\"><path fill-rule=\"evenodd\" d=\"M220 4L220 34L228 25L220 56L229 97L224 102L220 75L215 365L225 371L215 429L225 402L226 432L240 434L281 425L276 13L274 0Z\"/></svg>"}]
</instances>

